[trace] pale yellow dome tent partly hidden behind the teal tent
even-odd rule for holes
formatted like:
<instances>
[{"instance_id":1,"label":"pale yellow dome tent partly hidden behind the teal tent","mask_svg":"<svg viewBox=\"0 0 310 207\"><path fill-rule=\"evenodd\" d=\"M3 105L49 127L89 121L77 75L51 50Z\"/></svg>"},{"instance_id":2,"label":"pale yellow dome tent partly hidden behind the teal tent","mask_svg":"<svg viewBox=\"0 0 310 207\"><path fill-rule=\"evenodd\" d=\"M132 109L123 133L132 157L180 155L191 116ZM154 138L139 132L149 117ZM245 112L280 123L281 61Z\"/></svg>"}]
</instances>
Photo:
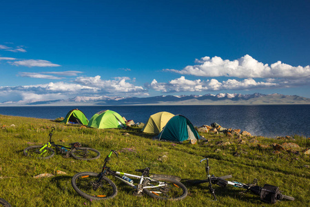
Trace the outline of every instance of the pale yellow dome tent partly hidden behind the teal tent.
<instances>
[{"instance_id":1,"label":"pale yellow dome tent partly hidden behind the teal tent","mask_svg":"<svg viewBox=\"0 0 310 207\"><path fill-rule=\"evenodd\" d=\"M142 131L145 133L158 134L166 126L167 122L174 117L172 113L169 112L158 112L149 117L147 123L143 127Z\"/></svg>"}]
</instances>

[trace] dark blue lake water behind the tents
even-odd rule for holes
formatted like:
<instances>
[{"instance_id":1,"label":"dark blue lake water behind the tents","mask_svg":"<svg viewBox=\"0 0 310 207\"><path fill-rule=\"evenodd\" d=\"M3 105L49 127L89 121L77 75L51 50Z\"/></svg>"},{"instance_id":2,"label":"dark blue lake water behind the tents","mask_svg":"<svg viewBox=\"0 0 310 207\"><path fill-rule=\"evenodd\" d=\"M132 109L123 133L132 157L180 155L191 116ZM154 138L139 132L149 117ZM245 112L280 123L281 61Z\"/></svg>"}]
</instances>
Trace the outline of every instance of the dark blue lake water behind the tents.
<instances>
[{"instance_id":1,"label":"dark blue lake water behind the tents","mask_svg":"<svg viewBox=\"0 0 310 207\"><path fill-rule=\"evenodd\" d=\"M218 123L225 128L240 128L252 135L310 137L310 105L256 106L19 106L0 107L1 115L56 119L79 108L87 119L101 110L114 110L127 120L146 123L150 115L167 111L184 115L194 126Z\"/></svg>"}]
</instances>

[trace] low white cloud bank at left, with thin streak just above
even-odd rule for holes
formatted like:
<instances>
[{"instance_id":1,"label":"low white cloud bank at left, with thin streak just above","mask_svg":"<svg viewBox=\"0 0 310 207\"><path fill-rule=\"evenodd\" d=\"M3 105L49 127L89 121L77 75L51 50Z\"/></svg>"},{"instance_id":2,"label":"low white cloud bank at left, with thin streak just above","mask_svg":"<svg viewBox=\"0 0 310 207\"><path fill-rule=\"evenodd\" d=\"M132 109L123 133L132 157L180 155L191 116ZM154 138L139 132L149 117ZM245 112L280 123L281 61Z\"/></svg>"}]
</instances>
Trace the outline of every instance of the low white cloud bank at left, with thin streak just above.
<instances>
[{"instance_id":1,"label":"low white cloud bank at left, with thin streak just above","mask_svg":"<svg viewBox=\"0 0 310 207\"><path fill-rule=\"evenodd\" d=\"M53 76L44 76L35 72L21 72L23 77L56 79ZM19 99L21 101L68 99L75 96L96 96L96 95L118 95L118 96L138 96L148 95L147 90L142 86L134 86L128 77L116 77L112 80L103 80L96 77L77 77L70 83L63 81L50 82L30 86L0 86L0 101Z\"/></svg>"}]
</instances>

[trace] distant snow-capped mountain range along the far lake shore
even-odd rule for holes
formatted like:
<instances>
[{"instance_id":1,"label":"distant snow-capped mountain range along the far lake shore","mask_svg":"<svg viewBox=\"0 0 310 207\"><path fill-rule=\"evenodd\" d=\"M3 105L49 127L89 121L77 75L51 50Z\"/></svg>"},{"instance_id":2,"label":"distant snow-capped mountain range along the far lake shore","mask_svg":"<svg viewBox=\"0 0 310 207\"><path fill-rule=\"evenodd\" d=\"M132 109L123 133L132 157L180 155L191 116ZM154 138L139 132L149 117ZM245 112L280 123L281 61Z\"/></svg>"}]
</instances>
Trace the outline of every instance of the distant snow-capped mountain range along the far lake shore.
<instances>
[{"instance_id":1,"label":"distant snow-capped mountain range along the far lake shore","mask_svg":"<svg viewBox=\"0 0 310 207\"><path fill-rule=\"evenodd\" d=\"M252 95L219 93L217 95L162 95L156 97L74 97L52 101L3 102L0 106L108 106L108 105L242 105L242 104L310 104L298 95Z\"/></svg>"}]
</instances>

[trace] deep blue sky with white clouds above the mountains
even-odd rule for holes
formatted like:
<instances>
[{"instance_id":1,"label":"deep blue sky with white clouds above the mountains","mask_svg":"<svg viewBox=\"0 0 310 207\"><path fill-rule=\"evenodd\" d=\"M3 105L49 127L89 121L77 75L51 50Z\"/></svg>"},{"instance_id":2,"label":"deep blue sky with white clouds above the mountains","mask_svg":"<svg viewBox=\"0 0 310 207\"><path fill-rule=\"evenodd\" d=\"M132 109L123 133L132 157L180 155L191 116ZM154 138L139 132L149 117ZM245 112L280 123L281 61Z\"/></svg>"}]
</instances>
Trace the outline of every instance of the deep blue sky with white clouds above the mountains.
<instances>
[{"instance_id":1,"label":"deep blue sky with white clouds above the mountains","mask_svg":"<svg viewBox=\"0 0 310 207\"><path fill-rule=\"evenodd\" d=\"M309 1L2 1L0 102L310 98Z\"/></svg>"}]
</instances>

